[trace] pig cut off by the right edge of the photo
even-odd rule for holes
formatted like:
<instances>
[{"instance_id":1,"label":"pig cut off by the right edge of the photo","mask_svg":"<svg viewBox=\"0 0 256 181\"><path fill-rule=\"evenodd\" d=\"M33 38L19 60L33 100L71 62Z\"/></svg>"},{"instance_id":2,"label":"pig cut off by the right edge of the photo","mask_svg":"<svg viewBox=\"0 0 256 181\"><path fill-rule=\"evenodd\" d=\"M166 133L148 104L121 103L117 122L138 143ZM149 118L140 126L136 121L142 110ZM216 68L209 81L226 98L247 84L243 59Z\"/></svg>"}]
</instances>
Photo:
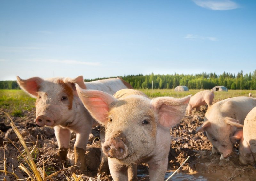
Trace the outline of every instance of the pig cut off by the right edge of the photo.
<instances>
[{"instance_id":1,"label":"pig cut off by the right edge of the photo","mask_svg":"<svg viewBox=\"0 0 256 181\"><path fill-rule=\"evenodd\" d=\"M256 107L254 107L244 120L243 130L238 130L232 137L240 140L239 160L244 165L256 163Z\"/></svg>"}]
</instances>

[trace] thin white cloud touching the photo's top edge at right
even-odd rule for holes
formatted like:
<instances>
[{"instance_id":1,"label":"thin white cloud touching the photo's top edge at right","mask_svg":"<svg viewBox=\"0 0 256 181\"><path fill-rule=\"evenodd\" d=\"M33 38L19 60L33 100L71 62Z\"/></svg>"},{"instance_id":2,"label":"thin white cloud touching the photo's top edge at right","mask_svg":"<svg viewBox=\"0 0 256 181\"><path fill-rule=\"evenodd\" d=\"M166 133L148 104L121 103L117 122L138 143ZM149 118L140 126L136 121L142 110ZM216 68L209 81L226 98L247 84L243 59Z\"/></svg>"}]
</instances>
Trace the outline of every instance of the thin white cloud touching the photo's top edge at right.
<instances>
[{"instance_id":1,"label":"thin white cloud touching the photo's top edge at right","mask_svg":"<svg viewBox=\"0 0 256 181\"><path fill-rule=\"evenodd\" d=\"M233 10L239 5L230 0L193 0L196 5L211 10Z\"/></svg>"}]
</instances>

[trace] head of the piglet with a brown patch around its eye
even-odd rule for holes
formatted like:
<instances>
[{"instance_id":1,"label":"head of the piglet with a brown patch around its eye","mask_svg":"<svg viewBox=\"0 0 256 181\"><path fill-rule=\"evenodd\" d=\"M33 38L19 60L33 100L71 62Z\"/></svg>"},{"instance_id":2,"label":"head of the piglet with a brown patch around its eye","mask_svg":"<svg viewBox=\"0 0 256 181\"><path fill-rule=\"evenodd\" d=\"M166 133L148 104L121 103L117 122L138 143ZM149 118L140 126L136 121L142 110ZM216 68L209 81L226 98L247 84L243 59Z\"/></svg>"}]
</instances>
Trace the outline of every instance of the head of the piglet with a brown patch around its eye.
<instances>
[{"instance_id":1,"label":"head of the piglet with a brown patch around its eye","mask_svg":"<svg viewBox=\"0 0 256 181\"><path fill-rule=\"evenodd\" d=\"M75 100L79 99L76 93L75 82L82 83L83 77L76 79L52 78L43 80L33 77L22 80L17 77L20 87L32 97L36 97L36 123L39 126L68 126L75 119Z\"/></svg>"}]
</instances>

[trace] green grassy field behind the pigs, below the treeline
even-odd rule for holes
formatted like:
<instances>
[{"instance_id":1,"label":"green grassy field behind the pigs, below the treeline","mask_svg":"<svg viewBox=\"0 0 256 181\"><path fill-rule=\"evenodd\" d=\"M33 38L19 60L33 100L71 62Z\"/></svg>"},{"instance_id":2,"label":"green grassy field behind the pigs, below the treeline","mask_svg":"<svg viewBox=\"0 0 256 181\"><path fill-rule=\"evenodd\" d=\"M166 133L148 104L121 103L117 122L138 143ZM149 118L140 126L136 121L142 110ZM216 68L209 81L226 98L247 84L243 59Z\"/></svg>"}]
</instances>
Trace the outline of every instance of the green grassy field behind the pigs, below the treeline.
<instances>
[{"instance_id":1,"label":"green grassy field behind the pigs, below the treeline","mask_svg":"<svg viewBox=\"0 0 256 181\"><path fill-rule=\"evenodd\" d=\"M140 89L150 98L159 96L171 96L182 98L187 95L194 95L201 91L198 89L190 89L186 92L176 92L174 89ZM248 96L249 92L256 96L256 90L228 90L228 92L215 92L215 100L222 100L236 96ZM23 116L24 111L30 111L35 107L35 99L31 98L22 90L0 90L0 109L8 110L10 114L16 117Z\"/></svg>"}]
</instances>

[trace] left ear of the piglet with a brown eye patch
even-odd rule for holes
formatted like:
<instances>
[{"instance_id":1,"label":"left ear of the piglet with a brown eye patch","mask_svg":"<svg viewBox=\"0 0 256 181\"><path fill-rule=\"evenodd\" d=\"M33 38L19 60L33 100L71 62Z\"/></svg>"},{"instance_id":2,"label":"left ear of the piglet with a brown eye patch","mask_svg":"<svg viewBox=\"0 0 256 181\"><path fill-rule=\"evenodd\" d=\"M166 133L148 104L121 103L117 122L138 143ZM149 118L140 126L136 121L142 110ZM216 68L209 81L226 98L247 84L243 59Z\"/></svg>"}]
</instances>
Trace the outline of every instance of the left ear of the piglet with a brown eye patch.
<instances>
[{"instance_id":1,"label":"left ear of the piglet with a brown eye patch","mask_svg":"<svg viewBox=\"0 0 256 181\"><path fill-rule=\"evenodd\" d=\"M17 76L16 78L20 88L30 94L30 96L36 98L37 92L40 88L40 84L44 80L39 77L32 77L26 80L21 79L19 76Z\"/></svg>"}]
</instances>

